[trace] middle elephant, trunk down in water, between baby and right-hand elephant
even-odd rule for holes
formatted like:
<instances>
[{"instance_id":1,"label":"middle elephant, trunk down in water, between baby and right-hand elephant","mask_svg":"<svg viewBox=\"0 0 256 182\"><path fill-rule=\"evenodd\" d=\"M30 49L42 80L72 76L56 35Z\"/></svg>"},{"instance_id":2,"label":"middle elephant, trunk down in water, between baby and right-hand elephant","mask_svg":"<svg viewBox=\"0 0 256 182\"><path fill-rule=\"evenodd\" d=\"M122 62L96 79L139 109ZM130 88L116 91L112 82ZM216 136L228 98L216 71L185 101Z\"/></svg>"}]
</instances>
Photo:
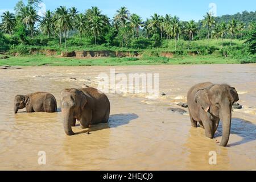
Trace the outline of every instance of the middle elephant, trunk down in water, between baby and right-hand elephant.
<instances>
[{"instance_id":1,"label":"middle elephant, trunk down in water, between baby and right-hand elephant","mask_svg":"<svg viewBox=\"0 0 256 182\"><path fill-rule=\"evenodd\" d=\"M95 88L64 89L60 93L60 101L67 135L75 134L71 127L76 125L76 119L80 121L82 129L89 128L90 124L107 123L109 120L109 99Z\"/></svg>"}]
</instances>

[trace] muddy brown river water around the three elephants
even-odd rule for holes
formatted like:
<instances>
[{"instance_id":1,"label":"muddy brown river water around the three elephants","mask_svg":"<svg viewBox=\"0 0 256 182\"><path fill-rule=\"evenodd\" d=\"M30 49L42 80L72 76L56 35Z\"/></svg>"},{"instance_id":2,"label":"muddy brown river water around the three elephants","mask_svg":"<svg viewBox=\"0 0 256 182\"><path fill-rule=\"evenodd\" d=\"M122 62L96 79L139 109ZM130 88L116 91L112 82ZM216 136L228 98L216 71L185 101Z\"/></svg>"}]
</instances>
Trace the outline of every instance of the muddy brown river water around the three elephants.
<instances>
[{"instance_id":1,"label":"muddy brown river water around the three elephants","mask_svg":"<svg viewBox=\"0 0 256 182\"><path fill-rule=\"evenodd\" d=\"M256 169L256 64L21 68L0 69L1 170ZM61 89L97 88L98 75L109 75L110 68L115 75L159 73L159 93L166 96L108 93L109 123L92 125L90 135L79 122L73 127L79 134L65 135L61 112L13 114L16 94L50 92L59 107ZM204 129L191 127L188 114L168 110L186 101L192 85L205 81L234 86L243 105L232 113L227 147L216 144L221 126L208 139ZM39 151L46 152L45 165L38 164ZM216 165L209 164L210 151L217 154Z\"/></svg>"}]
</instances>

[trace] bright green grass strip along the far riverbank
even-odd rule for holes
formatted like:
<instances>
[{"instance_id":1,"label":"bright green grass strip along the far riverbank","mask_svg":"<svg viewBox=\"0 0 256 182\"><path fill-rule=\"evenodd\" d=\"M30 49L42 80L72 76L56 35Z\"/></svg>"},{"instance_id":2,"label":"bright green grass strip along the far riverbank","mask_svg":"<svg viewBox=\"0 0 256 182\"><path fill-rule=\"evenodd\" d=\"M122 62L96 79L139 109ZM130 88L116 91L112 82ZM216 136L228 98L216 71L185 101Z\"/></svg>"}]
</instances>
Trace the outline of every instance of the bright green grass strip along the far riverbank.
<instances>
[{"instance_id":1,"label":"bright green grass strip along the far riverbank","mask_svg":"<svg viewBox=\"0 0 256 182\"><path fill-rule=\"evenodd\" d=\"M11 56L9 59L0 60L0 65L18 66L90 66L90 65L157 65L157 64L239 64L240 61L223 56L175 56L166 57L98 57L92 59L77 59L73 57L55 56Z\"/></svg>"}]
</instances>

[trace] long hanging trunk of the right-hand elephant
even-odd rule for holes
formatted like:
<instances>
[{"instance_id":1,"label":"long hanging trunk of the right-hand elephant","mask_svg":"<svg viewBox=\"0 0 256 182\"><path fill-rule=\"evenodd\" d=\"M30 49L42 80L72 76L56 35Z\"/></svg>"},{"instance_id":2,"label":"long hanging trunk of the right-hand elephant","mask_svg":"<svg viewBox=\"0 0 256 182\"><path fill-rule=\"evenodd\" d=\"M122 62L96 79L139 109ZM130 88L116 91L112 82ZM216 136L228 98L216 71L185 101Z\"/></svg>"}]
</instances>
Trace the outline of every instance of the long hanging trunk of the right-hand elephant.
<instances>
[{"instance_id":1,"label":"long hanging trunk of the right-hand elephant","mask_svg":"<svg viewBox=\"0 0 256 182\"><path fill-rule=\"evenodd\" d=\"M220 146L225 147L229 141L231 127L231 109L227 108L221 111L220 119L222 121L222 138Z\"/></svg>"}]
</instances>

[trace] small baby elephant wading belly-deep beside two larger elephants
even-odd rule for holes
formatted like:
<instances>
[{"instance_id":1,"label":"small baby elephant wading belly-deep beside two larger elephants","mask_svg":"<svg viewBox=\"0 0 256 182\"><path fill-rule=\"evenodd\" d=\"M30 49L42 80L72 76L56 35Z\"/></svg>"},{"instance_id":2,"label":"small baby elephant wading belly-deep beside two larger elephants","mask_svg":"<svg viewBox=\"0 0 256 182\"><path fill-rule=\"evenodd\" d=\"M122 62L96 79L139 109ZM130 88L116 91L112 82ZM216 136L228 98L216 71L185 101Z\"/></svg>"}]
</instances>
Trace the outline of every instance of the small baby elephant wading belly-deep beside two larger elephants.
<instances>
[{"instance_id":1,"label":"small baby elephant wading belly-deep beside two larger elephants","mask_svg":"<svg viewBox=\"0 0 256 182\"><path fill-rule=\"evenodd\" d=\"M54 113L57 111L57 102L51 93L36 92L26 96L17 95L14 98L14 113L19 109L26 107L27 113L47 112Z\"/></svg>"}]
</instances>

